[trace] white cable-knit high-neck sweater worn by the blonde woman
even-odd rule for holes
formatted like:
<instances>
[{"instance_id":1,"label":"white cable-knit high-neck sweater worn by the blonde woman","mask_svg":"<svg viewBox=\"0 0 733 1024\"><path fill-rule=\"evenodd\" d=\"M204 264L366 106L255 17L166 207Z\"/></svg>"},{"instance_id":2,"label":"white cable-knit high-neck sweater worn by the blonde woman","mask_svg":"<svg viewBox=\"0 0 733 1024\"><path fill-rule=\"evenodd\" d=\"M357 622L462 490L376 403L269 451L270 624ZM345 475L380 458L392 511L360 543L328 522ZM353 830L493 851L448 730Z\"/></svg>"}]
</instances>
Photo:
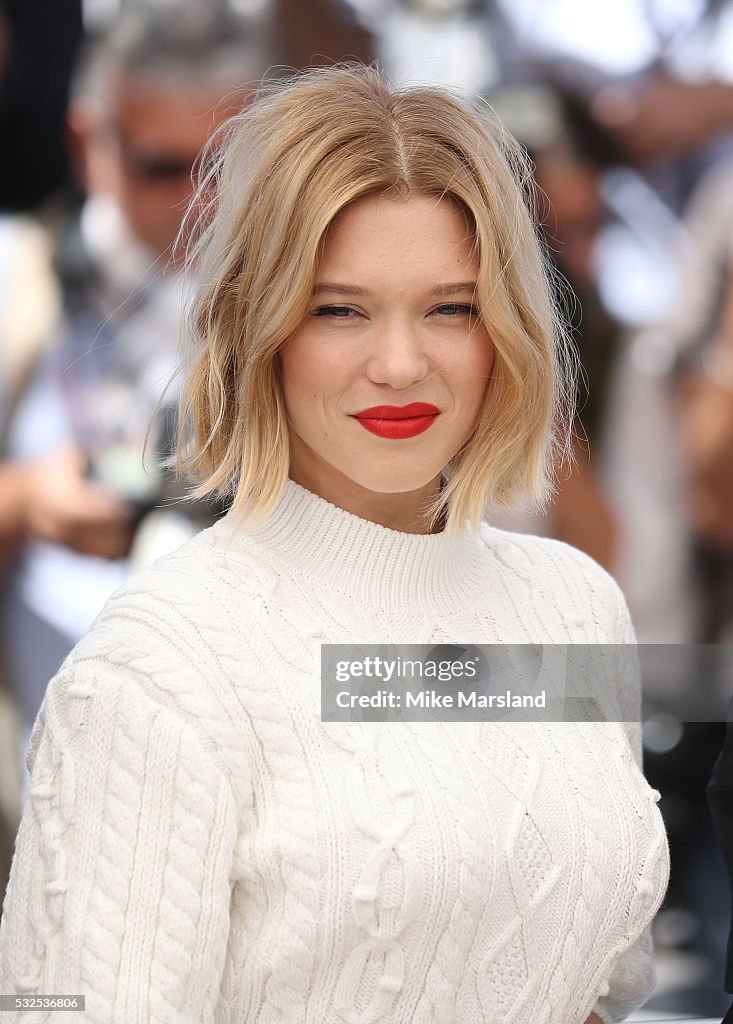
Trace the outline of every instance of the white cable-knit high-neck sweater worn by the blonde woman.
<instances>
[{"instance_id":1,"label":"white cable-knit high-neck sweater worn by the blonde woman","mask_svg":"<svg viewBox=\"0 0 733 1024\"><path fill-rule=\"evenodd\" d=\"M83 993L75 1020L115 1024L638 1006L669 869L638 727L321 723L319 644L352 641L633 634L556 542L400 534L293 482L265 523L227 516L119 591L49 685L0 992Z\"/></svg>"}]
</instances>

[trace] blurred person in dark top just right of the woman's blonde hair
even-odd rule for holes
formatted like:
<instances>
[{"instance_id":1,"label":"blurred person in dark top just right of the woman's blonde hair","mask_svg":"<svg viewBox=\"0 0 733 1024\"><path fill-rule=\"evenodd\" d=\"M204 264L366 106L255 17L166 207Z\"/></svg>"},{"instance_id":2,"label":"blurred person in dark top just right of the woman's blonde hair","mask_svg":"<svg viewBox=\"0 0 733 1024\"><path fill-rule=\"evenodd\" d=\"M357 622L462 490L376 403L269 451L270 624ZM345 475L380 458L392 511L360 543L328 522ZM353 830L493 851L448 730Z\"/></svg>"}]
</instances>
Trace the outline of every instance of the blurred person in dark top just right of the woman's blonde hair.
<instances>
[{"instance_id":1,"label":"blurred person in dark top just right of the woman's blonde hair","mask_svg":"<svg viewBox=\"0 0 733 1024\"><path fill-rule=\"evenodd\" d=\"M609 571L615 567L617 524L599 472L606 386L618 327L604 308L595 280L596 244L607 217L601 170L583 150L562 109L548 90L517 97L503 90L491 101L514 125L534 165L541 221L548 255L555 267L558 303L571 327L579 356L578 412L573 462L558 478L551 505L542 514L492 511L497 525L540 532L587 552ZM536 111L545 112L537 117Z\"/></svg>"}]
</instances>

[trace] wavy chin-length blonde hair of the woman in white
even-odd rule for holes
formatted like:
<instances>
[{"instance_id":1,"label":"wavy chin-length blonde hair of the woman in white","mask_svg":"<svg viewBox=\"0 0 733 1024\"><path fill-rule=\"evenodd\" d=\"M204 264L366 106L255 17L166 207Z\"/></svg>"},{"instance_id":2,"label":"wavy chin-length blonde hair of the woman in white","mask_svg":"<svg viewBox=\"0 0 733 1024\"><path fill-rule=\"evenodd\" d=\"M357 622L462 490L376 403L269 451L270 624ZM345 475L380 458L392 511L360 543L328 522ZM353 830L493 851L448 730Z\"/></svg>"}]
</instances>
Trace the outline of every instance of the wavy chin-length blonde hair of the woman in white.
<instances>
[{"instance_id":1,"label":"wavy chin-length blonde hair of the woman in white","mask_svg":"<svg viewBox=\"0 0 733 1024\"><path fill-rule=\"evenodd\" d=\"M570 449L573 362L527 205L528 164L490 109L337 65L266 83L218 154L191 208L201 347L178 465L195 494L227 496L253 518L279 500L290 456L277 353L312 298L329 225L359 197L387 193L448 197L468 215L494 345L481 416L432 521L454 532L477 527L488 505L546 502Z\"/></svg>"}]
</instances>

